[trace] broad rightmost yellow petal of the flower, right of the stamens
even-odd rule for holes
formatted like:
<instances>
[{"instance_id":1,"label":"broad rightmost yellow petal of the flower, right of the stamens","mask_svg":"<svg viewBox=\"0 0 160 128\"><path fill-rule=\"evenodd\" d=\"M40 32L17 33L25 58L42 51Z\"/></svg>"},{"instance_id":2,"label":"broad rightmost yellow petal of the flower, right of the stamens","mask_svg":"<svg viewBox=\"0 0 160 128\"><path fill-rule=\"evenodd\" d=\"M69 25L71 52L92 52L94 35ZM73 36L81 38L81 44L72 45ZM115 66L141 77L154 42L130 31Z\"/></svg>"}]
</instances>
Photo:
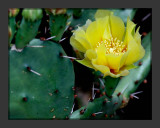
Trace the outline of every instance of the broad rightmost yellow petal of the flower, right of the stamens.
<instances>
[{"instance_id":1,"label":"broad rightmost yellow petal of the flower, right of the stamens","mask_svg":"<svg viewBox=\"0 0 160 128\"><path fill-rule=\"evenodd\" d=\"M124 65L130 65L140 60L145 55L145 50L142 45L138 45L135 40L128 43L128 57Z\"/></svg>"}]
</instances>

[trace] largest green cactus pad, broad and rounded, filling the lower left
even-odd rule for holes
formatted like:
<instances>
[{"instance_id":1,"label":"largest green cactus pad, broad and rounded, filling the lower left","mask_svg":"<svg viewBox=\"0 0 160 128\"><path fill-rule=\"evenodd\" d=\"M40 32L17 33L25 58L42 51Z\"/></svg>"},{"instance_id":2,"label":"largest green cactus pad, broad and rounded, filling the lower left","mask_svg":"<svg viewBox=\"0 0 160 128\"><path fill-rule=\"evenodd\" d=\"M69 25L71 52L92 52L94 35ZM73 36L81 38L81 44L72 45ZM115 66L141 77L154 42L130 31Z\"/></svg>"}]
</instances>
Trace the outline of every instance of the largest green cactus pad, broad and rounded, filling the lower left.
<instances>
[{"instance_id":1,"label":"largest green cactus pad, broad and rounded, filling the lower left","mask_svg":"<svg viewBox=\"0 0 160 128\"><path fill-rule=\"evenodd\" d=\"M70 59L60 53L66 55L59 44L38 39L22 52L9 52L9 119L66 119L70 115L74 71Z\"/></svg>"}]
</instances>

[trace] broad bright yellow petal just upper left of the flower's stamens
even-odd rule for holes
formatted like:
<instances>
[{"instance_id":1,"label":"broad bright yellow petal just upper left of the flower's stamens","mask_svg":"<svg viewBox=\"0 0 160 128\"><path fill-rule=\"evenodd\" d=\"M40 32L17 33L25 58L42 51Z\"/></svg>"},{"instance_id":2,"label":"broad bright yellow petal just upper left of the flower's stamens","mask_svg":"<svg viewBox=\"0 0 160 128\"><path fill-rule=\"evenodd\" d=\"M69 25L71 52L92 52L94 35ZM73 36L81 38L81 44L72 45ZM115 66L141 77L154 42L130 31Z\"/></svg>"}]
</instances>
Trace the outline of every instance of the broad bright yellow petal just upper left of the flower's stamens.
<instances>
[{"instance_id":1,"label":"broad bright yellow petal just upper left of the flower's stamens","mask_svg":"<svg viewBox=\"0 0 160 128\"><path fill-rule=\"evenodd\" d=\"M96 44L101 41L102 35L98 31L98 25L97 22L94 21L90 23L86 30L86 36L88 41L91 43L91 45L95 48Z\"/></svg>"}]
</instances>

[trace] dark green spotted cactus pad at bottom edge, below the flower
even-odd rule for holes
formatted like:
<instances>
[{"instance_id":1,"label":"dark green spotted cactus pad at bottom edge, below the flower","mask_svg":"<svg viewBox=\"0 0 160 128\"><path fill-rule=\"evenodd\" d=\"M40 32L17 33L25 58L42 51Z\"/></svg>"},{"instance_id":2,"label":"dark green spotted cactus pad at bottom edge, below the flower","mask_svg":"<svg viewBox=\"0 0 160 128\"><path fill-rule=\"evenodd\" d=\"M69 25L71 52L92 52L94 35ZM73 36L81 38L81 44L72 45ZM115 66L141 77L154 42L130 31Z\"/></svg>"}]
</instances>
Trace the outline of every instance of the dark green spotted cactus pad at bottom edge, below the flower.
<instances>
[{"instance_id":1,"label":"dark green spotted cactus pad at bottom edge, below the flower","mask_svg":"<svg viewBox=\"0 0 160 128\"><path fill-rule=\"evenodd\" d=\"M112 99L109 99L107 96L103 96L95 99L93 102L89 102L86 107L82 107L73 112L70 119L114 119L115 111L120 107L121 103L122 96L118 97L116 95L112 97ZM82 110L84 110L84 113L81 113ZM95 114L95 116L93 114Z\"/></svg>"}]
</instances>

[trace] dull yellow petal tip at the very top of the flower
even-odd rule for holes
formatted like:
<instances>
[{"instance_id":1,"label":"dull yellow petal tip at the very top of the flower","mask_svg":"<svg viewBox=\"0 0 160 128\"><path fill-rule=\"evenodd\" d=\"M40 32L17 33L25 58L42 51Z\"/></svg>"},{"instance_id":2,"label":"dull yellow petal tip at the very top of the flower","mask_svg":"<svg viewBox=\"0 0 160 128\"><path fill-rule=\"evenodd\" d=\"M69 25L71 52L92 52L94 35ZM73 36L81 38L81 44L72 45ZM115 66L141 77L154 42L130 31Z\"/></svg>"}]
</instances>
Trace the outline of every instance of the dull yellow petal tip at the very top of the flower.
<instances>
[{"instance_id":1,"label":"dull yellow petal tip at the very top of the flower","mask_svg":"<svg viewBox=\"0 0 160 128\"><path fill-rule=\"evenodd\" d=\"M104 9L98 9L98 11L96 12L94 17L95 17L95 19L97 19L97 18L102 18L102 17L110 16L110 15L113 15L112 11L104 10Z\"/></svg>"}]
</instances>

